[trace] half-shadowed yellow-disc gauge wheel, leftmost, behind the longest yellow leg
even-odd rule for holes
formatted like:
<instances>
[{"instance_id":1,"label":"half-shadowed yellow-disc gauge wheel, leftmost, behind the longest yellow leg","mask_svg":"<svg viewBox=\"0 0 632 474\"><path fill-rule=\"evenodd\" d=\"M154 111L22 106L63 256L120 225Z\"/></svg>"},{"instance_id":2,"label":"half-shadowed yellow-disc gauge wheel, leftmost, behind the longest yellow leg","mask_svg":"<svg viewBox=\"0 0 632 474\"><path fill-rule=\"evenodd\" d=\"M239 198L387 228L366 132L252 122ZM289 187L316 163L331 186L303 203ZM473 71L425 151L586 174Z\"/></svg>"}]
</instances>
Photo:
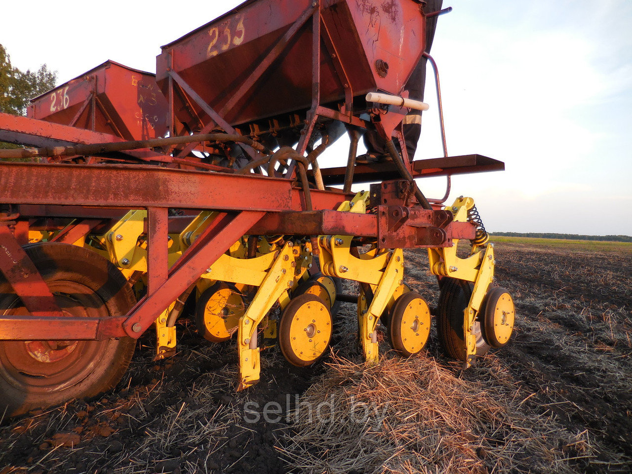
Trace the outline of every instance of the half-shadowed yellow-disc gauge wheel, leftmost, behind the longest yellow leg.
<instances>
[{"instance_id":1,"label":"half-shadowed yellow-disc gauge wheel, leftmost, behind the longest yellow leg","mask_svg":"<svg viewBox=\"0 0 632 474\"><path fill-rule=\"evenodd\" d=\"M202 291L195 306L195 327L207 341L228 341L245 312L241 293L233 285L218 281Z\"/></svg>"}]
</instances>

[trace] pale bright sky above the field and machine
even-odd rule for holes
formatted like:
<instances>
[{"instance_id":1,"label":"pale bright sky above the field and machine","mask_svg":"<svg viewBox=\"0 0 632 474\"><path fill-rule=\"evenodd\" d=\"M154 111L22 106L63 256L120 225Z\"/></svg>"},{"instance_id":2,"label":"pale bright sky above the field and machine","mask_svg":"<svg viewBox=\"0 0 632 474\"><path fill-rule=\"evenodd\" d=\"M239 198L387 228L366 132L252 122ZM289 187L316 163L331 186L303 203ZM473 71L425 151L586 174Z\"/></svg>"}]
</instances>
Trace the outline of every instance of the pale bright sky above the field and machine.
<instances>
[{"instance_id":1,"label":"pale bright sky above the field and machine","mask_svg":"<svg viewBox=\"0 0 632 474\"><path fill-rule=\"evenodd\" d=\"M288 0L291 1L291 0ZM46 63L66 82L112 59L155 71L160 46L241 3L6 2L0 44L21 70ZM431 54L450 155L506 171L453 176L451 202L477 203L489 231L632 235L632 1L444 0ZM442 156L427 81L416 158ZM321 166L342 166L341 138ZM324 157L325 158L325 157ZM419 179L441 197L445 178ZM359 189L358 189L359 190Z\"/></svg>"}]
</instances>

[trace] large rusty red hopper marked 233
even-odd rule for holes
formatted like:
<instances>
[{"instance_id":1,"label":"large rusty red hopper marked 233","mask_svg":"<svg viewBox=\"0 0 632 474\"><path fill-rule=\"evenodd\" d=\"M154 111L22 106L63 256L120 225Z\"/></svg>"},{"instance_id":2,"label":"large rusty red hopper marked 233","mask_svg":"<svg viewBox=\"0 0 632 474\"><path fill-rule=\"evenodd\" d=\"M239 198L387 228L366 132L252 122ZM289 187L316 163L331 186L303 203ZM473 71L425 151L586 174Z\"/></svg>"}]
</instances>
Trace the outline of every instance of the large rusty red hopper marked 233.
<instances>
[{"instance_id":1,"label":"large rusty red hopper marked 233","mask_svg":"<svg viewBox=\"0 0 632 474\"><path fill-rule=\"evenodd\" d=\"M162 47L157 59L157 82L166 95L169 69L188 83L206 104L219 111L233 97L236 102L226 111L226 121L237 125L276 114L307 109L313 100L312 61L313 25L305 23L291 42L279 42L299 19L312 13L316 4L327 37L336 51L323 51L320 63L320 102L345 99L345 87L356 96L369 90L398 94L423 51L425 20L414 0L269 0L246 2L236 9ZM307 20L307 18L304 18ZM280 45L280 46L279 46ZM266 58L281 48L283 56ZM332 54L336 54L334 63ZM388 64L391 72L381 77L375 64ZM257 66L273 72L248 80ZM341 67L342 66L342 67ZM222 74L216 74L216 71ZM342 70L346 71L341 80ZM256 75L255 75L256 76ZM234 87L235 78L241 87ZM256 91L252 90L257 85ZM240 97L240 89L243 89ZM184 103L178 97L176 110ZM204 116L181 111L178 118L194 123ZM193 128L195 130L195 128Z\"/></svg>"}]
</instances>

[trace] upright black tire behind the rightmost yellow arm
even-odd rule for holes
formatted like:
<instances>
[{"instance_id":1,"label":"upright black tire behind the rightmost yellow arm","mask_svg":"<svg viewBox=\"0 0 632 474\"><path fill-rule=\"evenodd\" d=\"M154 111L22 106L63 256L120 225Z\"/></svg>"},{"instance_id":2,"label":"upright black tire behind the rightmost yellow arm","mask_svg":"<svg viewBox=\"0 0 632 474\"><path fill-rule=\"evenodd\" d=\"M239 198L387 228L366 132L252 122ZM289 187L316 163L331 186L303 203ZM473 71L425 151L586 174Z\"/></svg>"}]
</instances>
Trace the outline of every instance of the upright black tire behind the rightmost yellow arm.
<instances>
[{"instance_id":1,"label":"upright black tire behind the rightmost yellow arm","mask_svg":"<svg viewBox=\"0 0 632 474\"><path fill-rule=\"evenodd\" d=\"M439 314L437 331L439 340L447 355L456 360L465 361L465 340L463 339L463 311L470 302L473 284L456 278L444 278L439 294ZM477 336L476 355L487 354L489 344L483 339L478 320L474 323Z\"/></svg>"}]
</instances>

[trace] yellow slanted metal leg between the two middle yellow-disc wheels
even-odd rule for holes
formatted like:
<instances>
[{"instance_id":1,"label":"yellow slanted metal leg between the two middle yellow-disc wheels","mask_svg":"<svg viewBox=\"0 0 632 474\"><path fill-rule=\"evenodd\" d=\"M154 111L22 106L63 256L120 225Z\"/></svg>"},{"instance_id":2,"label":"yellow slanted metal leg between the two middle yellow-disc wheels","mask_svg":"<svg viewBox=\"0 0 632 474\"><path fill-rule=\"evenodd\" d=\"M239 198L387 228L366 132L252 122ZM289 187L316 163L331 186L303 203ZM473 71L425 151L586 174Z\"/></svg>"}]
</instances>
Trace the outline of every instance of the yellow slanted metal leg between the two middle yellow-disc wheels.
<instances>
[{"instance_id":1,"label":"yellow slanted metal leg between the two middle yellow-disc wheels","mask_svg":"<svg viewBox=\"0 0 632 474\"><path fill-rule=\"evenodd\" d=\"M396 288L401 284L403 277L404 253L401 248L396 248L391 252L391 258L386 265L386 270L382 273L367 312L359 315L360 343L368 363L377 362L379 353L375 328L380 315L384 312Z\"/></svg>"}]
</instances>

